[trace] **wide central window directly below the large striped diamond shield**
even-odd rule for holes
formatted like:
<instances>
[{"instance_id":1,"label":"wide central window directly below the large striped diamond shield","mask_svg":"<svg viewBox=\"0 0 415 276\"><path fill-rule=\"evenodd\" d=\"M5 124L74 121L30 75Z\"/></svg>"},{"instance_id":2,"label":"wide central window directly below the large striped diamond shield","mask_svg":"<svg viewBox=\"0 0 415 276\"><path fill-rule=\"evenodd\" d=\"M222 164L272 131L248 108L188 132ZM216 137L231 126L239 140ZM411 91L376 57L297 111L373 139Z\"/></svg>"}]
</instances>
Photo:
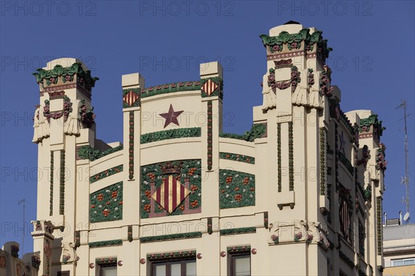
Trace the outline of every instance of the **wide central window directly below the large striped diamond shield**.
<instances>
[{"instance_id":1,"label":"wide central window directly below the large striped diamond shield","mask_svg":"<svg viewBox=\"0 0 415 276\"><path fill-rule=\"evenodd\" d=\"M196 251L180 251L147 255L148 275L196 276Z\"/></svg>"}]
</instances>

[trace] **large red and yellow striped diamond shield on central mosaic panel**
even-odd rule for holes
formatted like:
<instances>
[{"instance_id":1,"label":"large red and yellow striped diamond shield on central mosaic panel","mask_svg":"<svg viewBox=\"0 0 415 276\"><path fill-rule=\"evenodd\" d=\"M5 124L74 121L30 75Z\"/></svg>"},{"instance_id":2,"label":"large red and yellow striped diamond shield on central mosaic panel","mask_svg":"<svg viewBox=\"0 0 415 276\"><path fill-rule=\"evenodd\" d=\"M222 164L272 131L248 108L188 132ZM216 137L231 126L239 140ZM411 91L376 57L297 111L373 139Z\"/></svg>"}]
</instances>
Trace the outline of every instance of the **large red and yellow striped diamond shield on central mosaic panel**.
<instances>
[{"instance_id":1,"label":"large red and yellow striped diamond shield on central mosaic panel","mask_svg":"<svg viewBox=\"0 0 415 276\"><path fill-rule=\"evenodd\" d=\"M190 190L187 190L180 181L169 175L151 197L167 212L172 213L189 194Z\"/></svg>"}]
</instances>

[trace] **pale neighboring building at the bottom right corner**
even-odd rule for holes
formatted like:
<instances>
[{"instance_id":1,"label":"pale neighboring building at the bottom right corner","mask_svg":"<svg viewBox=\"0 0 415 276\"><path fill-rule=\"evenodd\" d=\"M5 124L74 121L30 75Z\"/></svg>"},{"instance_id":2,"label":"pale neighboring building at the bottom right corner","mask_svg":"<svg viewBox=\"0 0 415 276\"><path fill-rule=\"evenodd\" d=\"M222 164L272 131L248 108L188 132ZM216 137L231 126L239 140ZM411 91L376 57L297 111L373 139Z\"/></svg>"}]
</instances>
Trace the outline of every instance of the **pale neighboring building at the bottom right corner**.
<instances>
[{"instance_id":1,"label":"pale neighboring building at the bottom right corner","mask_svg":"<svg viewBox=\"0 0 415 276\"><path fill-rule=\"evenodd\" d=\"M415 275L415 224L400 225L397 220L398 224L383 228L383 275Z\"/></svg>"}]
</instances>

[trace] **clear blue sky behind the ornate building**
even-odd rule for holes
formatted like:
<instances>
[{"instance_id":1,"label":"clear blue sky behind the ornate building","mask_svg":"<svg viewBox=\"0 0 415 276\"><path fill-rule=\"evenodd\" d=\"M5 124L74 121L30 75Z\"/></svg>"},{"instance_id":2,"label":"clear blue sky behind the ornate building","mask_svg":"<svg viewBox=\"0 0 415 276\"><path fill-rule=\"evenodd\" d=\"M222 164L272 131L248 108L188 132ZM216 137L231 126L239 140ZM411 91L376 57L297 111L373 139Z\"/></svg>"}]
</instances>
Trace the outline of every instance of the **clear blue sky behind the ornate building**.
<instances>
[{"instance_id":1,"label":"clear blue sky behind the ornate building","mask_svg":"<svg viewBox=\"0 0 415 276\"><path fill-rule=\"evenodd\" d=\"M32 72L50 59L82 59L93 76L98 138L122 141L121 75L140 72L146 86L199 79L199 63L224 68L224 131L242 133L262 103L266 52L259 34L286 21L323 30L327 61L342 90L342 110L371 109L387 128L384 210L405 206L403 110L407 100L412 214L414 175L414 1L1 1L0 244L21 242L36 219L37 146L33 112L39 88ZM372 155L374 158L374 155ZM415 221L415 217L412 222ZM10 229L11 228L11 229ZM33 242L26 232L25 253Z\"/></svg>"}]
</instances>

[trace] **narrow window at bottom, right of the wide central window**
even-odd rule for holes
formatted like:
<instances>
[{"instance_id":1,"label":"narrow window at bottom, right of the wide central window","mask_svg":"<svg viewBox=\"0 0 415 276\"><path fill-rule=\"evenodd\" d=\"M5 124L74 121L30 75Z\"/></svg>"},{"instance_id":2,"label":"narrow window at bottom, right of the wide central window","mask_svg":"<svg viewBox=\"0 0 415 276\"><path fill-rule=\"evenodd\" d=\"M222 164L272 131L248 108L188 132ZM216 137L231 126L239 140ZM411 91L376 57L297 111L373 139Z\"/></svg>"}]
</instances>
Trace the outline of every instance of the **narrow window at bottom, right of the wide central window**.
<instances>
[{"instance_id":1,"label":"narrow window at bottom, right of the wide central window","mask_svg":"<svg viewBox=\"0 0 415 276\"><path fill-rule=\"evenodd\" d=\"M250 276L250 246L228 248L228 276Z\"/></svg>"}]
</instances>

